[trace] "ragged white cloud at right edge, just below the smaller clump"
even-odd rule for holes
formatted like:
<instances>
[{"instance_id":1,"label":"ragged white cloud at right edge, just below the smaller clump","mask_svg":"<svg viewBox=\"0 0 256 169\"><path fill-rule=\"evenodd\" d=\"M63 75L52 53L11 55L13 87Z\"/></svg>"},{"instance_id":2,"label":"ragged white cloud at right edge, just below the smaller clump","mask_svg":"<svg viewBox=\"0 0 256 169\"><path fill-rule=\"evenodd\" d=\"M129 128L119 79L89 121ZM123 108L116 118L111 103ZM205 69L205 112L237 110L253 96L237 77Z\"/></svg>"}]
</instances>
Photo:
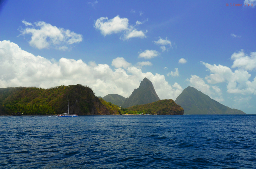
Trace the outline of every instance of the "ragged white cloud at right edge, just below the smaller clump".
<instances>
[{"instance_id":1,"label":"ragged white cloud at right edge, just below the smaller clump","mask_svg":"<svg viewBox=\"0 0 256 169\"><path fill-rule=\"evenodd\" d=\"M243 95L256 95L256 77L253 81L249 81L251 74L243 69L235 70L234 72L227 66L211 65L202 62L209 69L210 75L205 76L208 83L216 84L226 82L228 93L240 93Z\"/></svg>"}]
</instances>

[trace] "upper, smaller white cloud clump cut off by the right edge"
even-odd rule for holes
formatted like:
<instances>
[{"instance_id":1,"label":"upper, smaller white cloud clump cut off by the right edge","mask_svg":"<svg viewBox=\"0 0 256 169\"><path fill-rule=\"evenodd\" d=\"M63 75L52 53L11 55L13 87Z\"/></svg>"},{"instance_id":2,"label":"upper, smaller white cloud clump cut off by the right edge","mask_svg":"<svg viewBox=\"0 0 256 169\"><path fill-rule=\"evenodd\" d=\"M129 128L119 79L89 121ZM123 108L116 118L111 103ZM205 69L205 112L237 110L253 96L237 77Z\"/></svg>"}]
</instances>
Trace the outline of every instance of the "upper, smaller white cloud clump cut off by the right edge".
<instances>
[{"instance_id":1,"label":"upper, smaller white cloud clump cut off by the right edge","mask_svg":"<svg viewBox=\"0 0 256 169\"><path fill-rule=\"evenodd\" d=\"M231 59L234 60L232 68L238 67L244 70L256 69L256 52L251 52L250 57L240 50L238 53L233 53Z\"/></svg>"}]
</instances>

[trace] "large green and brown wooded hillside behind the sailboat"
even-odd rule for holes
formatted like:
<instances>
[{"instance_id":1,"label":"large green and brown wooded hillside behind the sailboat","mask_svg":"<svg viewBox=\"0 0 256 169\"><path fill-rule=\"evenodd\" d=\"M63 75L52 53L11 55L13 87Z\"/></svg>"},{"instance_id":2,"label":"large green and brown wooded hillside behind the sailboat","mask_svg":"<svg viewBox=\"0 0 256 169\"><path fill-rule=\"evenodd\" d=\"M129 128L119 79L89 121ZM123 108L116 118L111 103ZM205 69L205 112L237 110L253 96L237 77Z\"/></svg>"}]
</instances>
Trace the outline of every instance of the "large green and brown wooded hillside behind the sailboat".
<instances>
[{"instance_id":1,"label":"large green and brown wooded hillside behind the sailboat","mask_svg":"<svg viewBox=\"0 0 256 169\"><path fill-rule=\"evenodd\" d=\"M99 100L93 90L83 85L0 88L0 115L44 115L69 113L78 115L119 114L118 106Z\"/></svg>"}]
</instances>

